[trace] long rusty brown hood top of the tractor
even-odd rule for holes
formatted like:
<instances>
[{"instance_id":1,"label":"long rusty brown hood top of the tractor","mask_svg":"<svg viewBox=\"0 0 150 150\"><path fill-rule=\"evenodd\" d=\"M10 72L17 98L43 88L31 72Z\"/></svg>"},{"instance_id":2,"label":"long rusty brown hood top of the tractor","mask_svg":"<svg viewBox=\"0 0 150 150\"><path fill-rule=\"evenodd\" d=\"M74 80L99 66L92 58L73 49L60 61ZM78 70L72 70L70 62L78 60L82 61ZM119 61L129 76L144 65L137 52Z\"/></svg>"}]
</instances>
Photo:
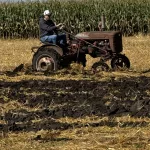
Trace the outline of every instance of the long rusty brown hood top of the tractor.
<instances>
[{"instance_id":1,"label":"long rusty brown hood top of the tractor","mask_svg":"<svg viewBox=\"0 0 150 150\"><path fill-rule=\"evenodd\" d=\"M109 39L115 35L120 35L120 31L92 31L92 32L81 32L75 37L84 40L97 40L97 39Z\"/></svg>"}]
</instances>

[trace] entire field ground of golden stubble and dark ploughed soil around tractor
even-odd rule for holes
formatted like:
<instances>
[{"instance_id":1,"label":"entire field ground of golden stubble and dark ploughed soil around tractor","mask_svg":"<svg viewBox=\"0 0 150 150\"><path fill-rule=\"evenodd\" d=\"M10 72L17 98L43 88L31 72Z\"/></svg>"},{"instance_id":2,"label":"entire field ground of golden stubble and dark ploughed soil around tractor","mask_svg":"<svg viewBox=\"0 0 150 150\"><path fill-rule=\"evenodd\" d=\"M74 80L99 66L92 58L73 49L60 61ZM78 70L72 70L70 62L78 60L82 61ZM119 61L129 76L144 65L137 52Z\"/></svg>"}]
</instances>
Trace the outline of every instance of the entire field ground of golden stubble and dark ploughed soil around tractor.
<instances>
[{"instance_id":1,"label":"entire field ground of golden stubble and dark ploughed soil around tractor","mask_svg":"<svg viewBox=\"0 0 150 150\"><path fill-rule=\"evenodd\" d=\"M150 149L150 37L124 37L131 69L93 75L95 59L53 75L30 72L37 39L0 40L0 147L4 150ZM109 62L108 62L109 63ZM24 70L9 74L24 64Z\"/></svg>"}]
</instances>

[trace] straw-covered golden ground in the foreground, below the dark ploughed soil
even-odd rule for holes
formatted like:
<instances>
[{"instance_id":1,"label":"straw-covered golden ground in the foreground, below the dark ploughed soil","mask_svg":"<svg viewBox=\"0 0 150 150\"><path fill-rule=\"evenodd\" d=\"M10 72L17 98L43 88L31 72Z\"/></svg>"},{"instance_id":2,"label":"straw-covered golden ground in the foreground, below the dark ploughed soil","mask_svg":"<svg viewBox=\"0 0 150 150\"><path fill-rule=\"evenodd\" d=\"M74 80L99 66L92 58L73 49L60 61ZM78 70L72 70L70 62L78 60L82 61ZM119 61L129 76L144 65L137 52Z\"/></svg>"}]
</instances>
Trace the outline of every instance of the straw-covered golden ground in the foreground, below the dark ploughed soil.
<instances>
[{"instance_id":1,"label":"straw-covered golden ground in the foreground, below the dark ploughed soil","mask_svg":"<svg viewBox=\"0 0 150 150\"><path fill-rule=\"evenodd\" d=\"M67 118L66 118L67 119ZM69 119L69 118L68 118ZM81 120L87 124L89 119L82 118ZM130 122L128 126L123 127L119 124L126 124L129 120L134 120L134 123L139 123L136 127L132 127ZM78 122L71 120L71 122ZM82 124L82 121L80 123ZM95 120L99 122L100 119ZM102 121L102 120L101 120ZM103 120L104 121L104 120ZM38 132L18 132L9 133L7 137L0 139L0 146L2 149L12 150L149 150L149 126L142 127L140 123L143 119L133 118L116 118L108 123L108 118L105 118L106 124L103 126L83 126L80 128L74 127L72 129L60 130L41 130ZM114 122L117 122L114 125ZM79 122L78 122L79 123ZM90 122L91 123L91 122ZM94 123L94 122L93 122Z\"/></svg>"}]
</instances>

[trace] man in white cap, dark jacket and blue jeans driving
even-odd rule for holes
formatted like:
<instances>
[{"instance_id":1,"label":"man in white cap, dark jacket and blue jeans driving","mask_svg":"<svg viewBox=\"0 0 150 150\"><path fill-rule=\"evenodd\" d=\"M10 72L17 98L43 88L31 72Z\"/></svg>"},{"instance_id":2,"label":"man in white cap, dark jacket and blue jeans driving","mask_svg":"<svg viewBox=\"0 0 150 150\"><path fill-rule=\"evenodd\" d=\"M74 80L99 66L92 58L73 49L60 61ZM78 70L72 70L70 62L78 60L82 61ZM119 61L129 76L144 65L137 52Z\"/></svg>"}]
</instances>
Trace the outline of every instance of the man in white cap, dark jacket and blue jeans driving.
<instances>
[{"instance_id":1,"label":"man in white cap, dark jacket and blue jeans driving","mask_svg":"<svg viewBox=\"0 0 150 150\"><path fill-rule=\"evenodd\" d=\"M57 44L57 41L60 41L60 46L63 48L66 46L66 35L65 34L56 34L58 29L62 29L63 24L59 23L55 25L51 20L52 13L49 10L45 10L43 16L39 21L40 28L40 40L42 43L48 42Z\"/></svg>"}]
</instances>

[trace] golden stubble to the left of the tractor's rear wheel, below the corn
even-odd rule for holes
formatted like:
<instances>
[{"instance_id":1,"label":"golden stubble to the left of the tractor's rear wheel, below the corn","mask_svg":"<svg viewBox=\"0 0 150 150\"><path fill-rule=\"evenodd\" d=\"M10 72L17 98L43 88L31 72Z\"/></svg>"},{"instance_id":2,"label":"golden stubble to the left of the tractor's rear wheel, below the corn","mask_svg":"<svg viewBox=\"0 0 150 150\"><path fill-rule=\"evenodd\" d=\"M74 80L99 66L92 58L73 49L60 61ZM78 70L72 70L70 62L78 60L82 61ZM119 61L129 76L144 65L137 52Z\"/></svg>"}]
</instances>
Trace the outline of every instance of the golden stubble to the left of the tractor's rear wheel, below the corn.
<instances>
[{"instance_id":1,"label":"golden stubble to the left of the tractor's rear wheel, below the corn","mask_svg":"<svg viewBox=\"0 0 150 150\"><path fill-rule=\"evenodd\" d=\"M40 45L37 39L0 40L0 71L12 70L20 64L30 64L31 47Z\"/></svg>"}]
</instances>

